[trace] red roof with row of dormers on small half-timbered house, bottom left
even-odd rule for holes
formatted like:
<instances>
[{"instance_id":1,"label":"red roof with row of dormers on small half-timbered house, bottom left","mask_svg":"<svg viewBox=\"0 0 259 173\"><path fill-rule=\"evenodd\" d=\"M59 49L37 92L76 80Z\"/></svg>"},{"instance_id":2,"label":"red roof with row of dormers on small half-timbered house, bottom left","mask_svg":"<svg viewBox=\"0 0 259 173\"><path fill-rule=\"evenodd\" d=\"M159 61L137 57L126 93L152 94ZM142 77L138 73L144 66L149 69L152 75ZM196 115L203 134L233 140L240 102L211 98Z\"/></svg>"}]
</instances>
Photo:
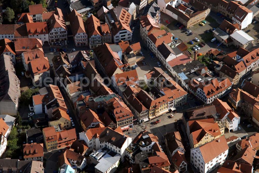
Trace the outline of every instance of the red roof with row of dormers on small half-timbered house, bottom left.
<instances>
[{"instance_id":1,"label":"red roof with row of dormers on small half-timbered house, bottom left","mask_svg":"<svg viewBox=\"0 0 259 173\"><path fill-rule=\"evenodd\" d=\"M23 158L43 157L43 143L31 143L23 145Z\"/></svg>"}]
</instances>

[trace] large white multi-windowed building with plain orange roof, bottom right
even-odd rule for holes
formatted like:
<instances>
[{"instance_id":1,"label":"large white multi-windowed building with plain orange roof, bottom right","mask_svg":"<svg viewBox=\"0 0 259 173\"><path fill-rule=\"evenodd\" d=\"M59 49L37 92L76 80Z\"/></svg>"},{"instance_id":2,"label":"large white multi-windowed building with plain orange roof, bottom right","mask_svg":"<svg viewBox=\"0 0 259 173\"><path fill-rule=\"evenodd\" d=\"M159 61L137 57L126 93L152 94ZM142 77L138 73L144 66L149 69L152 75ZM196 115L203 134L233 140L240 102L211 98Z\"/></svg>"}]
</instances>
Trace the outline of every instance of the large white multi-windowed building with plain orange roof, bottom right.
<instances>
[{"instance_id":1,"label":"large white multi-windowed building with plain orange roof, bottom right","mask_svg":"<svg viewBox=\"0 0 259 173\"><path fill-rule=\"evenodd\" d=\"M200 172L206 173L222 165L227 159L228 145L225 135L200 147L191 149L191 164Z\"/></svg>"}]
</instances>

